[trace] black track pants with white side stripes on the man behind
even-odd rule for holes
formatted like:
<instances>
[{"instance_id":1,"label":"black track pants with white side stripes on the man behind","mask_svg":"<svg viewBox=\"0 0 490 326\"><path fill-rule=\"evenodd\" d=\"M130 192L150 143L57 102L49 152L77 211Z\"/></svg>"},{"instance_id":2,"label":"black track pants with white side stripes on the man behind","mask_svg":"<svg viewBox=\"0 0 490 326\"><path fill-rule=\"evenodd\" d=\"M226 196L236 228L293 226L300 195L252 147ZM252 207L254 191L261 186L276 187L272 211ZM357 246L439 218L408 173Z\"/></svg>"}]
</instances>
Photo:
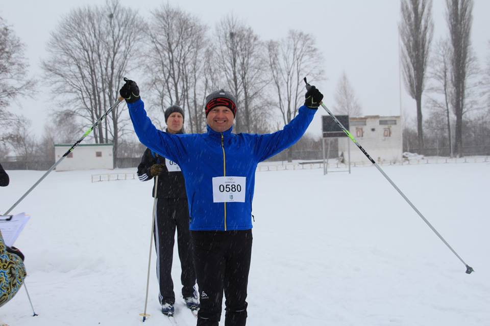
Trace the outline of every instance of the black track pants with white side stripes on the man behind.
<instances>
[{"instance_id":1,"label":"black track pants with white side stripes on the man behind","mask_svg":"<svg viewBox=\"0 0 490 326\"><path fill-rule=\"evenodd\" d=\"M177 228L177 246L182 267L182 295L194 293L195 272L192 262L192 242L189 231L189 210L186 198L158 198L155 216L155 248L157 251L157 278L160 284L158 299L162 303L175 303L172 282L172 258Z\"/></svg>"}]
</instances>

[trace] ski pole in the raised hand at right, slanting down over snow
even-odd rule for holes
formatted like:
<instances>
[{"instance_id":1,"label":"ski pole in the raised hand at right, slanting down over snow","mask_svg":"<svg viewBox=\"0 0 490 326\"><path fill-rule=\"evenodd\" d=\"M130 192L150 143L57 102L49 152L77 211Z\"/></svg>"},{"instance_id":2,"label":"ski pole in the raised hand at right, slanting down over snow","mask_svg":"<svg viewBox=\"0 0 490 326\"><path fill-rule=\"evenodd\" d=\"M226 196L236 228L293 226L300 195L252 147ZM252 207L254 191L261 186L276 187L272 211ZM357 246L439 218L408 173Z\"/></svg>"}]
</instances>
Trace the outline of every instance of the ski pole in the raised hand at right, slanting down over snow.
<instances>
[{"instance_id":1,"label":"ski pole in the raised hand at right, slanting down over snow","mask_svg":"<svg viewBox=\"0 0 490 326\"><path fill-rule=\"evenodd\" d=\"M306 84L306 89L309 90L311 88L311 85L308 84L308 82L306 81L306 77L304 78L304 81ZM437 230L429 223L429 221L427 221L427 219L415 207L415 205L413 205L412 202L410 202L410 200L408 200L407 196L405 196L405 194L403 194L403 192L395 184L395 182L393 182L386 175L386 173L384 173L384 171L379 167L379 165L376 163L376 161L373 158L371 158L371 156L369 156L369 154L367 154L367 152L364 150L364 148L362 148L362 146L359 144L359 142L354 138L352 133L350 133L349 130L347 130L346 127L344 127L344 125L342 125L342 123L340 121L338 121L337 117L335 117L335 115L333 113L331 113L330 110L328 110L327 106L325 104L323 104L323 102L320 102L320 105L322 105L322 107L325 109L325 111L327 111L327 113L333 118L333 120L340 127L340 129L342 129L342 131L344 131L347 134L347 137L349 137L354 142L354 144L357 146L357 148L359 148L359 150L361 152L363 152L364 155L366 155L367 159L369 159L371 161L371 163L376 167L376 169L378 169L378 171L381 172L381 174L386 178L386 180L388 180L388 182L391 183L391 185L393 185L393 187L396 189L396 191L403 197L403 199L406 200L408 205L410 205L413 208L413 210L417 214L419 214L419 216L422 218L422 220L424 220L424 222L427 223L427 225L431 228L432 231L434 231L434 233L439 237L439 239L441 239L446 244L446 246L448 246L448 248L453 252L453 254L456 255L456 257L458 257L458 259L464 264L464 266L466 266L466 274L471 274L471 272L474 271L474 269L472 267L470 267L467 263L465 263L461 257L459 257L459 255L454 251L454 249L449 245L449 243L443 238L443 236L440 235L439 232L437 232Z\"/></svg>"}]
</instances>

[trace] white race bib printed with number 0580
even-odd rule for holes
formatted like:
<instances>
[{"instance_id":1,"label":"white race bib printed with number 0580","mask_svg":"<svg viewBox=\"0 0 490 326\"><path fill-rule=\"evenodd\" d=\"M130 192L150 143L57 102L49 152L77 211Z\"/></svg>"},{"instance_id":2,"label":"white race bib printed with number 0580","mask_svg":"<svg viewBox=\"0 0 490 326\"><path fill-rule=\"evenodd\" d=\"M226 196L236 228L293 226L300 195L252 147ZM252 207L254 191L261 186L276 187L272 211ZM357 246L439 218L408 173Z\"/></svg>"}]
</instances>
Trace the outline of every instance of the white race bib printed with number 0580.
<instances>
[{"instance_id":1,"label":"white race bib printed with number 0580","mask_svg":"<svg viewBox=\"0 0 490 326\"><path fill-rule=\"evenodd\" d=\"M246 177L214 177L213 202L245 202Z\"/></svg>"}]
</instances>

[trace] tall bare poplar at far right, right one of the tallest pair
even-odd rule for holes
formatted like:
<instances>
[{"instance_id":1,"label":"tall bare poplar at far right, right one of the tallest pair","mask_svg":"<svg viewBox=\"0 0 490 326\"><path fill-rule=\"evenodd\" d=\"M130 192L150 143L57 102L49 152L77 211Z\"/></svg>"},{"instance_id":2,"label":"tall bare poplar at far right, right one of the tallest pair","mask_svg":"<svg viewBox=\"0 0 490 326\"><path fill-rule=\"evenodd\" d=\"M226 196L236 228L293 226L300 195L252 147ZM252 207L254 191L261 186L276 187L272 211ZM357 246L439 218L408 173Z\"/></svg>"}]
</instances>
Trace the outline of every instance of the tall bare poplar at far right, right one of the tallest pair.
<instances>
[{"instance_id":1,"label":"tall bare poplar at far right, right one of the tallest pair","mask_svg":"<svg viewBox=\"0 0 490 326\"><path fill-rule=\"evenodd\" d=\"M451 68L453 107L456 115L454 151L462 155L462 127L467 96L467 78L475 58L471 50L471 26L473 23L473 0L446 0L446 19L451 40Z\"/></svg>"}]
</instances>

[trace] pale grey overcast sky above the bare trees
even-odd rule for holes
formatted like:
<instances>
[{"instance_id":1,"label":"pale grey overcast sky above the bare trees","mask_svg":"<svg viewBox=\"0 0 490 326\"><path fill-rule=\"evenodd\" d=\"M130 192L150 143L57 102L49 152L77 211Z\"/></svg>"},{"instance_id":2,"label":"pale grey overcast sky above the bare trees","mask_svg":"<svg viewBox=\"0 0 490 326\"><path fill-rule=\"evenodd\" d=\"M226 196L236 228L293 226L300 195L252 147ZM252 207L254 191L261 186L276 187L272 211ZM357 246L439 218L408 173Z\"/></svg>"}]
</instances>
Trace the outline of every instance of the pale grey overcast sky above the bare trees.
<instances>
[{"instance_id":1,"label":"pale grey overcast sky above the bare trees","mask_svg":"<svg viewBox=\"0 0 490 326\"><path fill-rule=\"evenodd\" d=\"M103 1L0 0L0 3L0 16L7 20L27 47L31 75L41 78L40 62L46 58L45 44L60 17L76 7L103 4ZM121 3L148 17L150 10L162 2L121 0ZM400 114L398 0L170 0L168 3L201 18L211 27L226 14L233 13L251 26L262 40L285 37L289 29L310 33L323 53L322 68L326 77L326 81L312 81L312 84L325 95L327 106L334 104L335 88L345 71L364 115ZM432 13L435 43L447 35L445 0L433 0ZM488 13L490 1L475 0L472 44L482 66L490 53ZM33 133L37 135L42 134L47 113L52 108L48 89L41 87L39 91L34 99L21 99L12 104L14 112L33 120ZM407 95L403 84L401 102L404 114L414 116L415 102ZM320 116L316 115L310 133L321 134Z\"/></svg>"}]
</instances>

